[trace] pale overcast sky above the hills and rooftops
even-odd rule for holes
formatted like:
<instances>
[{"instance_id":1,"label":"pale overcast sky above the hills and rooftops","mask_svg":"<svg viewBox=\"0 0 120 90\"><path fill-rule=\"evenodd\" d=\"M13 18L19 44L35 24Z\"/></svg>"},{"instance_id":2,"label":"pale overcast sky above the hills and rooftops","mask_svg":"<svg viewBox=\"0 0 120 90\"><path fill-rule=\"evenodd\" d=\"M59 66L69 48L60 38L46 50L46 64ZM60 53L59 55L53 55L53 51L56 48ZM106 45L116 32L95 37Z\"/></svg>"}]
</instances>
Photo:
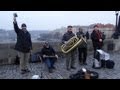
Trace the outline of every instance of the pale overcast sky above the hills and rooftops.
<instances>
[{"instance_id":1,"label":"pale overcast sky above the hills and rooftops","mask_svg":"<svg viewBox=\"0 0 120 90\"><path fill-rule=\"evenodd\" d=\"M18 25L28 30L53 30L67 25L115 24L114 11L0 11L0 29L13 29L13 13Z\"/></svg>"}]
</instances>

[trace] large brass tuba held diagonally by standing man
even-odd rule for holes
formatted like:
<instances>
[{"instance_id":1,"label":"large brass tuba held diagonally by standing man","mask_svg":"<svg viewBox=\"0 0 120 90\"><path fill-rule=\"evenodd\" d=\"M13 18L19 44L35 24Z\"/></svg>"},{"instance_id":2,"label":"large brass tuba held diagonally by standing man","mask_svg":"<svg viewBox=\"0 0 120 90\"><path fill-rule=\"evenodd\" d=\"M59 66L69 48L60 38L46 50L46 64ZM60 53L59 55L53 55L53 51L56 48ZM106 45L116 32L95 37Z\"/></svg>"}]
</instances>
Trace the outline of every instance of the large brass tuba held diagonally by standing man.
<instances>
[{"instance_id":1,"label":"large brass tuba held diagonally by standing man","mask_svg":"<svg viewBox=\"0 0 120 90\"><path fill-rule=\"evenodd\" d=\"M69 53L78 46L82 46L85 44L87 44L87 42L83 37L79 39L77 36L74 36L61 46L61 50L63 53Z\"/></svg>"}]
</instances>

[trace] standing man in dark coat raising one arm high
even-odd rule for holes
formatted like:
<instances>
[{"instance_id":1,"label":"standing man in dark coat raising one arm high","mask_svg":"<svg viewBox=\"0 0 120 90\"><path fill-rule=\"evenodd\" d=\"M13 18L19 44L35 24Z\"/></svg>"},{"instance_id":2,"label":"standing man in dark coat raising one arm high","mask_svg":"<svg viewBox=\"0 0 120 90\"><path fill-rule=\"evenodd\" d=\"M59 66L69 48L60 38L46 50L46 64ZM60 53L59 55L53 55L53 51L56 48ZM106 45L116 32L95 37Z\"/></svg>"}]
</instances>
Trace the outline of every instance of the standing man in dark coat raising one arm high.
<instances>
[{"instance_id":1,"label":"standing man in dark coat raising one arm high","mask_svg":"<svg viewBox=\"0 0 120 90\"><path fill-rule=\"evenodd\" d=\"M21 74L24 74L26 72L30 72L28 69L28 60L30 56L30 51L32 49L32 41L31 41L31 35L27 31L26 24L22 24L20 29L18 27L16 17L14 16L14 30L17 34L17 43L15 45L15 50L18 51L18 56L20 57L20 70Z\"/></svg>"}]
</instances>

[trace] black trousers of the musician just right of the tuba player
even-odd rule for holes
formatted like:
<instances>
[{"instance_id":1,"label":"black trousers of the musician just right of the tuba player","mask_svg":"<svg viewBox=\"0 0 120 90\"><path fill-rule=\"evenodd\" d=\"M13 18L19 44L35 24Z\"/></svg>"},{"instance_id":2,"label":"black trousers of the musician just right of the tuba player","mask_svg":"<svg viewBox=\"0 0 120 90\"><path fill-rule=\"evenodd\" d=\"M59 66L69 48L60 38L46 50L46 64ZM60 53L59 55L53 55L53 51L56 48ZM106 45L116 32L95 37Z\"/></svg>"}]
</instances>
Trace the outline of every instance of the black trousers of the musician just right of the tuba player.
<instances>
[{"instance_id":1,"label":"black trousers of the musician just right of the tuba player","mask_svg":"<svg viewBox=\"0 0 120 90\"><path fill-rule=\"evenodd\" d=\"M79 61L85 63L87 59L87 48L78 48Z\"/></svg>"}]
</instances>

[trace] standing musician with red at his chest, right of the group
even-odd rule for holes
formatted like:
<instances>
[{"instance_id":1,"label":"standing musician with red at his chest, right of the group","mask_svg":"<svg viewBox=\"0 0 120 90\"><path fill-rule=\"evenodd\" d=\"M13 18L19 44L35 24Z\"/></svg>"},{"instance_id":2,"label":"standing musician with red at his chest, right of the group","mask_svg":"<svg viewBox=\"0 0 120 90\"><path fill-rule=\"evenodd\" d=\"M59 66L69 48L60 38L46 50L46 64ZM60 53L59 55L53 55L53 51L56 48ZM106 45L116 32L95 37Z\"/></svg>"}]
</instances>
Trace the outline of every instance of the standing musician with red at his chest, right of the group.
<instances>
[{"instance_id":1,"label":"standing musician with red at his chest, right of the group","mask_svg":"<svg viewBox=\"0 0 120 90\"><path fill-rule=\"evenodd\" d=\"M94 26L94 30L91 33L91 39L92 39L92 43L93 43L94 58L95 58L96 50L97 49L102 49L102 46L103 46L102 33L99 31L99 26L98 25Z\"/></svg>"}]
</instances>

